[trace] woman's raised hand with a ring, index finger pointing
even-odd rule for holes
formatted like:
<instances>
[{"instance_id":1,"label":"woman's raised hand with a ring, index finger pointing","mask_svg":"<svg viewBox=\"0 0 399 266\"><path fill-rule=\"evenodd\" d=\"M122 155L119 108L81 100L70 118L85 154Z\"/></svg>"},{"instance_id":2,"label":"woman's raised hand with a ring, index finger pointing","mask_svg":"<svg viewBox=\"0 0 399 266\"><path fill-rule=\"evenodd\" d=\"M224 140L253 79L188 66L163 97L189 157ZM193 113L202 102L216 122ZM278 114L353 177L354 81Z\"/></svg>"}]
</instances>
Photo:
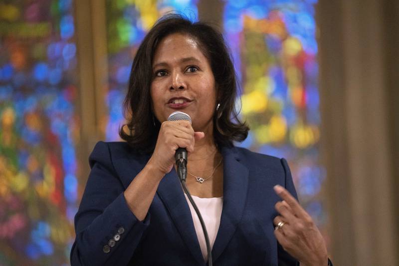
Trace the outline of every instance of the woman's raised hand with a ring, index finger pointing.
<instances>
[{"instance_id":1,"label":"woman's raised hand with a ring, index finger pointing","mask_svg":"<svg viewBox=\"0 0 399 266\"><path fill-rule=\"evenodd\" d=\"M301 266L327 266L326 244L310 215L286 189L277 185L274 190L283 199L275 205L280 215L273 220L274 235L280 245Z\"/></svg>"}]
</instances>

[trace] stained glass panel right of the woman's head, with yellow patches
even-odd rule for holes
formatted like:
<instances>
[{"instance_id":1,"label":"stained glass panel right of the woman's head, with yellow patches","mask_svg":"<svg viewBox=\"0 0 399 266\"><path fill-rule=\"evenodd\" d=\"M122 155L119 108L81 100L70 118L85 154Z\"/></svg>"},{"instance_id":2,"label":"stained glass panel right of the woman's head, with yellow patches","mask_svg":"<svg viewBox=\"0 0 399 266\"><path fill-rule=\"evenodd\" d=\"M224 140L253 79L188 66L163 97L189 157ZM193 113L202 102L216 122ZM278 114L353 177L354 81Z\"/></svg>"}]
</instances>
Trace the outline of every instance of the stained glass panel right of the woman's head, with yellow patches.
<instances>
[{"instance_id":1,"label":"stained glass panel right of the woman's head, with yellow patches","mask_svg":"<svg viewBox=\"0 0 399 266\"><path fill-rule=\"evenodd\" d=\"M315 3L226 0L223 26L242 87L238 106L251 128L237 145L289 161L301 204L327 238Z\"/></svg>"}]
</instances>

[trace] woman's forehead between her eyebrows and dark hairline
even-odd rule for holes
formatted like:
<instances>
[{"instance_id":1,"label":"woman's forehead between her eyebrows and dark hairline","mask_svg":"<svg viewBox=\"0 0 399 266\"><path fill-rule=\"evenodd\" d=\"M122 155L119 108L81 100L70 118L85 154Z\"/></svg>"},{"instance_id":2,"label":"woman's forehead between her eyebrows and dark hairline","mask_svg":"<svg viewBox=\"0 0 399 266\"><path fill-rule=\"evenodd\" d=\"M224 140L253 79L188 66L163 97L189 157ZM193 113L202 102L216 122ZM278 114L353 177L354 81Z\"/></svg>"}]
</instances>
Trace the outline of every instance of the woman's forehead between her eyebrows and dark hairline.
<instances>
[{"instance_id":1,"label":"woman's forehead between her eyebrows and dark hairline","mask_svg":"<svg viewBox=\"0 0 399 266\"><path fill-rule=\"evenodd\" d=\"M173 63L189 57L207 61L195 38L188 34L173 33L159 43L154 54L153 65L160 62Z\"/></svg>"}]
</instances>

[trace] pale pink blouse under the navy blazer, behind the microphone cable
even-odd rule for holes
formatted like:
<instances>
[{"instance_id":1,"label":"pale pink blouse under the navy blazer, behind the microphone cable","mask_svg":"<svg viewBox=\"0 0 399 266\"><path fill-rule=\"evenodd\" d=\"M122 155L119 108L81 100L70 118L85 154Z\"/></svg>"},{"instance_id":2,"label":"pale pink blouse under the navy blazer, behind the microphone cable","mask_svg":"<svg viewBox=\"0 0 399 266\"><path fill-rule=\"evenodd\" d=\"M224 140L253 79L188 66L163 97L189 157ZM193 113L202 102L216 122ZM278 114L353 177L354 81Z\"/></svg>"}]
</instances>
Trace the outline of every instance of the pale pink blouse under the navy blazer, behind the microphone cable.
<instances>
[{"instance_id":1,"label":"pale pink blouse under the navy blazer, behind the microphone cable","mask_svg":"<svg viewBox=\"0 0 399 266\"><path fill-rule=\"evenodd\" d=\"M197 213L190 203L189 197L186 194L187 203L190 206L191 216L193 217L194 228L196 229L198 242L200 243L200 248L204 261L207 261L208 253L206 252L205 237L202 232L202 227L200 219L198 219ZM223 197L220 198L200 198L197 196L192 196L194 202L196 203L198 209L200 210L203 222L208 232L210 249L212 250L213 243L216 239L217 230L220 225L221 210L223 207Z\"/></svg>"}]
</instances>

